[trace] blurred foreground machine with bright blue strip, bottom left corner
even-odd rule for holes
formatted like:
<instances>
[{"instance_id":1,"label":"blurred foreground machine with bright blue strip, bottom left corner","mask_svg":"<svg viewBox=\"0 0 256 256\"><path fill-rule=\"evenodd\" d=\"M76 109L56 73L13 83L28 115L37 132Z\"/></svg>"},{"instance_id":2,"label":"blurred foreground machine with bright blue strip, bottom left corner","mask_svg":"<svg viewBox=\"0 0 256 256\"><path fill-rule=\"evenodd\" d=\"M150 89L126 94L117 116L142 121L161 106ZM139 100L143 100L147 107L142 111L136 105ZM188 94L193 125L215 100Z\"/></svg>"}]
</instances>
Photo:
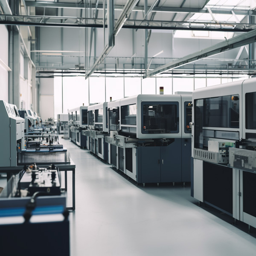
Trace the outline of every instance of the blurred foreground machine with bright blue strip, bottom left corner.
<instances>
[{"instance_id":1,"label":"blurred foreground machine with bright blue strip, bottom left corner","mask_svg":"<svg viewBox=\"0 0 256 256\"><path fill-rule=\"evenodd\" d=\"M0 193L3 255L70 255L69 212L60 184L54 165L30 165L12 175Z\"/></svg>"}]
</instances>

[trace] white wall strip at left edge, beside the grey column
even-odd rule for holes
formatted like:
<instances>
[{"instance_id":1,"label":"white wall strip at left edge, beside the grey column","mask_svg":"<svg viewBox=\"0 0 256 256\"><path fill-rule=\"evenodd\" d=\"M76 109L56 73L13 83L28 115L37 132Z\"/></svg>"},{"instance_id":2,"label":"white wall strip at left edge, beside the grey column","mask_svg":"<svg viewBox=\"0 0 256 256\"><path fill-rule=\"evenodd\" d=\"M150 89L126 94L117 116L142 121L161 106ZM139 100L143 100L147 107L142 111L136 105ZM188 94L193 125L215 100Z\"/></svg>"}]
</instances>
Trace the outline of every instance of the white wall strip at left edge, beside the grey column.
<instances>
[{"instance_id":1,"label":"white wall strip at left edge, beside the grey column","mask_svg":"<svg viewBox=\"0 0 256 256\"><path fill-rule=\"evenodd\" d=\"M5 25L0 25L0 35L0 100L9 102L9 33Z\"/></svg>"}]
</instances>

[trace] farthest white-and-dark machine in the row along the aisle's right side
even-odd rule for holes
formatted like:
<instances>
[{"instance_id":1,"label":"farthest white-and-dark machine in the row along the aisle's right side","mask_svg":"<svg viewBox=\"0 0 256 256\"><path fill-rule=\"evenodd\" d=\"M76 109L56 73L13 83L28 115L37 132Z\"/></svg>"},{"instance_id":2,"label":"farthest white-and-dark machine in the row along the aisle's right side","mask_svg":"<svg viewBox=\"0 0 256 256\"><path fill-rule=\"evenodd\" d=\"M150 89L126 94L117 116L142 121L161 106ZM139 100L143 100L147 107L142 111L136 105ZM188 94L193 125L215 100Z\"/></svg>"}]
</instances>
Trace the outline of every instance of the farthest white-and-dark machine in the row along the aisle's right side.
<instances>
[{"instance_id":1,"label":"farthest white-and-dark machine in the row along the aisle's right side","mask_svg":"<svg viewBox=\"0 0 256 256\"><path fill-rule=\"evenodd\" d=\"M83 105L68 111L70 140L81 148L87 146L87 138L82 134L82 131L88 128L87 108L87 106Z\"/></svg>"}]
</instances>

